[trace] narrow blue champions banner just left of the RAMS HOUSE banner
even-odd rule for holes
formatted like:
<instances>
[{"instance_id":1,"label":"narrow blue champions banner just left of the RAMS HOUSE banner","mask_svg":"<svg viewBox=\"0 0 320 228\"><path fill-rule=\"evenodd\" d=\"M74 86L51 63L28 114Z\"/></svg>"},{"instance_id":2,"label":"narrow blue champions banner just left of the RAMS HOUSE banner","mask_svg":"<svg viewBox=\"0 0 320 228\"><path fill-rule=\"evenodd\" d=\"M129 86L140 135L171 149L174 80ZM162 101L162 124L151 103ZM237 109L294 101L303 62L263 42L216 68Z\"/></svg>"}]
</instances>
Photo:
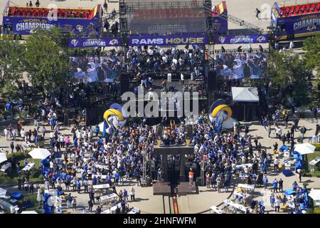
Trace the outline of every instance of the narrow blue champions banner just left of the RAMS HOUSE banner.
<instances>
[{"instance_id":1,"label":"narrow blue champions banner just left of the RAMS HOUSE banner","mask_svg":"<svg viewBox=\"0 0 320 228\"><path fill-rule=\"evenodd\" d=\"M70 38L69 48L121 46L121 38Z\"/></svg>"}]
</instances>

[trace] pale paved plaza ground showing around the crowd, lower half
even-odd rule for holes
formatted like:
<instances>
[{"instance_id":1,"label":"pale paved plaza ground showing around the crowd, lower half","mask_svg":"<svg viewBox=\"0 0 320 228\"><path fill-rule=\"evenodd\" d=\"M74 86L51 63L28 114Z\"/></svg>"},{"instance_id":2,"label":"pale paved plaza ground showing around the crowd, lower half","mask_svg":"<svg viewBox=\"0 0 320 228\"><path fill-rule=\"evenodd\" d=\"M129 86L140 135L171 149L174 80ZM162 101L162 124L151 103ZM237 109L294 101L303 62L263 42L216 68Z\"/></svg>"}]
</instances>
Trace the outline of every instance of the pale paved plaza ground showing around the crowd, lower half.
<instances>
[{"instance_id":1,"label":"pale paved plaza ground showing around the crowd, lower half","mask_svg":"<svg viewBox=\"0 0 320 228\"><path fill-rule=\"evenodd\" d=\"M307 128L306 135L304 142L308 142L308 140L314 135L315 132L315 126L316 124L320 123L319 120L315 120L314 118L306 118L301 119L299 121L299 126L304 125ZM267 137L267 131L265 128L262 127L257 122L252 123L243 123L245 125L250 126L250 135L255 137L257 135L259 137L259 142L261 142L262 148L265 148L268 153L272 154L272 145L274 142L278 142L279 145L282 145L282 142L275 139L274 130L272 130L272 138ZM291 124L289 124L288 130L290 128ZM281 126L284 128L284 125ZM25 130L33 130L34 126L32 125L26 125L23 128ZM46 125L46 128L50 128L50 126ZM66 135L71 135L70 130L67 128L63 128L62 133ZM243 131L241 134L244 134ZM48 129L48 134L50 135L50 130ZM296 133L296 139L299 137L299 132ZM48 136L46 137L46 142L48 142ZM11 143L11 140L6 140L4 138L3 133L1 133L0 137L0 147L4 148L5 150L10 150L9 144ZM17 139L17 143L22 143L21 139ZM255 153L257 153L257 150L255 150ZM273 156L274 157L274 156ZM282 158L283 159L283 158ZM294 168L291 167L291 170L294 171ZM284 180L284 190L291 189L292 183L294 181L299 182L299 178L297 175L293 175L291 177L285 177L281 171L274 172L273 167L270 167L269 171L267 172L267 176L269 178L269 182L272 182L274 178L282 178ZM78 173L78 177L80 177L80 173ZM220 207L223 207L223 201L227 198L233 199L233 191L235 190L234 187L238 185L238 178L234 178L231 182L231 185L228 189L228 192L221 192L218 193L214 191L213 189L208 189L206 186L198 187L199 194L198 195L187 195L187 196L181 196L178 197L178 209L179 213L209 213L209 208L213 205L220 205ZM303 185L303 183L308 183L308 188L319 188L320 187L320 178L319 177L302 177L302 182L299 183L300 186ZM125 180L124 185L119 185L117 187L117 192L119 190L127 189L129 190L131 187L134 187L136 190L136 201L129 202L129 207L139 207L141 209L142 213L164 213L164 207L163 207L163 199L161 196L154 196L153 195L153 188L152 187L138 187L137 182L135 180ZM1 183L0 183L1 187ZM70 188L71 189L71 188ZM8 190L10 192L13 192L17 190L17 186L9 186ZM223 190L222 190L223 191ZM82 191L83 192L83 191ZM255 192L253 196L256 200L262 199L265 202L266 212L274 213L274 209L271 207L270 204L270 193L272 192L272 185L269 184L269 187L267 190L264 190L264 187L256 187ZM67 192L68 193L68 192ZM63 209L65 209L65 212L70 213L82 213L82 207L87 208L87 201L89 200L89 197L87 193L81 193L78 194L77 192L71 192L73 196L77 196L78 200L78 210L73 211L72 209L67 209L66 204ZM166 213L169 213L169 201L168 197L166 197L165 207L166 207ZM95 211L95 208L97 207L97 204L94 205L92 212Z\"/></svg>"}]
</instances>

